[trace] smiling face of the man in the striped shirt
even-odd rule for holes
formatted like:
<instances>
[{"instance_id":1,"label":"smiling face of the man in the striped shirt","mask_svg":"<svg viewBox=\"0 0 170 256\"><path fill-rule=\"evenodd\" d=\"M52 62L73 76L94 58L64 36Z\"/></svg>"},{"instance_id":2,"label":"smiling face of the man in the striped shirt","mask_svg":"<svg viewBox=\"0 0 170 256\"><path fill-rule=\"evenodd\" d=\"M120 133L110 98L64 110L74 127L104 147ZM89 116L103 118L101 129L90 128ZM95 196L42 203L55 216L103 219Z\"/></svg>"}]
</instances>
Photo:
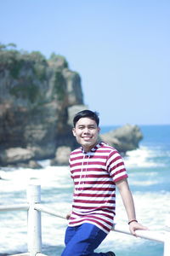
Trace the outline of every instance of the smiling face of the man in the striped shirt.
<instances>
[{"instance_id":1,"label":"smiling face of the man in the striped shirt","mask_svg":"<svg viewBox=\"0 0 170 256\"><path fill-rule=\"evenodd\" d=\"M98 143L99 127L93 119L82 118L77 121L73 128L73 135L77 138L77 143L82 145L86 152Z\"/></svg>"}]
</instances>

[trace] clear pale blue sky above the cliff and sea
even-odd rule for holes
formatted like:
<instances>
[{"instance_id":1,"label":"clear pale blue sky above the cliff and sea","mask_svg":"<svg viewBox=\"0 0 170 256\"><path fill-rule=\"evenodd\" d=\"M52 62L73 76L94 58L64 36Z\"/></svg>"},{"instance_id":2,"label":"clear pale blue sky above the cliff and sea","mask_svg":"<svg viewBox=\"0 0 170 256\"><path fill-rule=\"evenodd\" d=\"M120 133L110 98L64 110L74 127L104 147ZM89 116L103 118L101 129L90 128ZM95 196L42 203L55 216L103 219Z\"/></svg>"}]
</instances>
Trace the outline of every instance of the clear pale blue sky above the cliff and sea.
<instances>
[{"instance_id":1,"label":"clear pale blue sky above the cliff and sea","mask_svg":"<svg viewBox=\"0 0 170 256\"><path fill-rule=\"evenodd\" d=\"M1 0L0 42L64 55L101 125L170 124L169 0Z\"/></svg>"}]
</instances>

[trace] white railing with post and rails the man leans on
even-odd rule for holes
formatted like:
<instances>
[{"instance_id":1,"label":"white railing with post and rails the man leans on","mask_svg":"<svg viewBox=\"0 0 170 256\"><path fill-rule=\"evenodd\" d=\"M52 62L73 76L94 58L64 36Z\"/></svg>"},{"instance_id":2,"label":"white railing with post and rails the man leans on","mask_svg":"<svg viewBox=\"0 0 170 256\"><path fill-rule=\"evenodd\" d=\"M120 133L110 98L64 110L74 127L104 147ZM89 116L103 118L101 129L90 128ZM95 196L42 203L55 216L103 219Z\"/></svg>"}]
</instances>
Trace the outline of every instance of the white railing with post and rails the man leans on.
<instances>
[{"instance_id":1,"label":"white railing with post and rails the man leans on","mask_svg":"<svg viewBox=\"0 0 170 256\"><path fill-rule=\"evenodd\" d=\"M49 210L47 206L41 204L41 186L29 185L27 189L27 204L19 204L13 206L0 206L0 212L27 210L28 211L28 253L15 254L13 256L47 256L42 254L42 224L41 212L48 213L55 217L65 218L59 212ZM115 232L121 232L133 236L128 227L125 225L115 224L112 229ZM136 234L140 238L159 241L164 244L163 256L170 256L170 232L169 231L150 231L150 230L136 230Z\"/></svg>"}]
</instances>

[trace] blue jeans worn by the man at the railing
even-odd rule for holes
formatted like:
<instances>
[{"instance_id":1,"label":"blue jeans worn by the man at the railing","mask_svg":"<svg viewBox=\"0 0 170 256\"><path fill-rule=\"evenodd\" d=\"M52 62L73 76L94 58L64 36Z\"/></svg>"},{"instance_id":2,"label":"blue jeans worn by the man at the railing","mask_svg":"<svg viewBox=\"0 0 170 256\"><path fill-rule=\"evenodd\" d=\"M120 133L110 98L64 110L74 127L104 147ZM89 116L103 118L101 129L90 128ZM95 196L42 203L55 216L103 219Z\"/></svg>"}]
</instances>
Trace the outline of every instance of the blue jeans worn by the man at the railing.
<instances>
[{"instance_id":1,"label":"blue jeans worn by the man at the railing","mask_svg":"<svg viewBox=\"0 0 170 256\"><path fill-rule=\"evenodd\" d=\"M106 253L94 253L107 234L94 224L82 224L67 227L65 232L65 249L61 256L106 256Z\"/></svg>"}]
</instances>

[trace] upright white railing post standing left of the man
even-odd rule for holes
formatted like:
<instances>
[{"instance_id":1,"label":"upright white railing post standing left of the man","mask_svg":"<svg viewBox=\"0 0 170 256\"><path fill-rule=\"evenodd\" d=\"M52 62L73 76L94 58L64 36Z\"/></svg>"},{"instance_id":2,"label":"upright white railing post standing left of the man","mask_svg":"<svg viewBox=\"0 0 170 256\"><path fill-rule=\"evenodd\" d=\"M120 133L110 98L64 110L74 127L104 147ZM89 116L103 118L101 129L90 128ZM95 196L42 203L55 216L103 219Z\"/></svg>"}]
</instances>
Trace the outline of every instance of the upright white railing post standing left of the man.
<instances>
[{"instance_id":1,"label":"upright white railing post standing left of the man","mask_svg":"<svg viewBox=\"0 0 170 256\"><path fill-rule=\"evenodd\" d=\"M30 256L41 253L42 250L42 227L41 212L34 210L34 205L41 202L41 186L29 185L27 189L28 209L28 252Z\"/></svg>"}]
</instances>

